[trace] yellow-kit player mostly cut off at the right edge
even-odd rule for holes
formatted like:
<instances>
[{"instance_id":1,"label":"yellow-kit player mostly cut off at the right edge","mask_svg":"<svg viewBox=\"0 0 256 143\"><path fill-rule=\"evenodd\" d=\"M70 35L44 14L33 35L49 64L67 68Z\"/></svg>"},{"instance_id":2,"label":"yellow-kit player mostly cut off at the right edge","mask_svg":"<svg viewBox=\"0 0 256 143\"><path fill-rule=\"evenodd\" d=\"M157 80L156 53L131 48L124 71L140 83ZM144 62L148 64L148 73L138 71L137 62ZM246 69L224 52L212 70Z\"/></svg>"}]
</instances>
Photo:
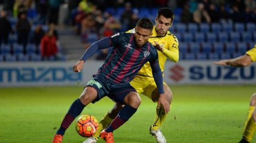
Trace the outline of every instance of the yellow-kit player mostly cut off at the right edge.
<instances>
[{"instance_id":1,"label":"yellow-kit player mostly cut off at the right edge","mask_svg":"<svg viewBox=\"0 0 256 143\"><path fill-rule=\"evenodd\" d=\"M252 62L256 62L256 45L254 48L247 51L245 55L239 56L237 58L229 59L229 60L221 60L218 62L214 62L214 64L218 65L230 65L236 67L243 67L252 64ZM256 130L256 93L254 93L250 100L250 107L247 114L247 120L245 121L245 129L243 132L243 138L239 143L247 143L252 141L252 137Z\"/></svg>"}]
</instances>

